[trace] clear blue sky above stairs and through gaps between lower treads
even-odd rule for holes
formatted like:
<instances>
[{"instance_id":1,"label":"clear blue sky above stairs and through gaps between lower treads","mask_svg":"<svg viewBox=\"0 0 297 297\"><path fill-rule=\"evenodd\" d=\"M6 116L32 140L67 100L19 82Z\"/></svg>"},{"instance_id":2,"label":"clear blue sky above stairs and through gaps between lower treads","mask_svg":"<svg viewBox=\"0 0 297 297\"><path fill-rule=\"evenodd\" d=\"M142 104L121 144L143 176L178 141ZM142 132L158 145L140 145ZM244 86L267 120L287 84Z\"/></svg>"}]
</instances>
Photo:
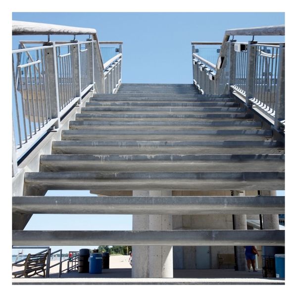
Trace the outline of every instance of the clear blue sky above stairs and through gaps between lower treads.
<instances>
[{"instance_id":1,"label":"clear blue sky above stairs and through gaps between lower treads","mask_svg":"<svg viewBox=\"0 0 297 297\"><path fill-rule=\"evenodd\" d=\"M192 83L192 41L221 42L227 29L281 25L285 23L285 14L16 12L12 13L12 19L95 28L101 41L123 41L123 83ZM13 48L17 47L18 40L26 39L33 38L14 37ZM261 40L283 41L283 38ZM54 192L51 195L63 195L60 191ZM72 193L68 192L67 195L80 195L77 191L70 192ZM83 192L82 195L86 195L86 191ZM25 230L131 229L131 215L117 216L116 219L110 215L34 215ZM79 248L81 247L64 247L63 252Z\"/></svg>"}]
</instances>

